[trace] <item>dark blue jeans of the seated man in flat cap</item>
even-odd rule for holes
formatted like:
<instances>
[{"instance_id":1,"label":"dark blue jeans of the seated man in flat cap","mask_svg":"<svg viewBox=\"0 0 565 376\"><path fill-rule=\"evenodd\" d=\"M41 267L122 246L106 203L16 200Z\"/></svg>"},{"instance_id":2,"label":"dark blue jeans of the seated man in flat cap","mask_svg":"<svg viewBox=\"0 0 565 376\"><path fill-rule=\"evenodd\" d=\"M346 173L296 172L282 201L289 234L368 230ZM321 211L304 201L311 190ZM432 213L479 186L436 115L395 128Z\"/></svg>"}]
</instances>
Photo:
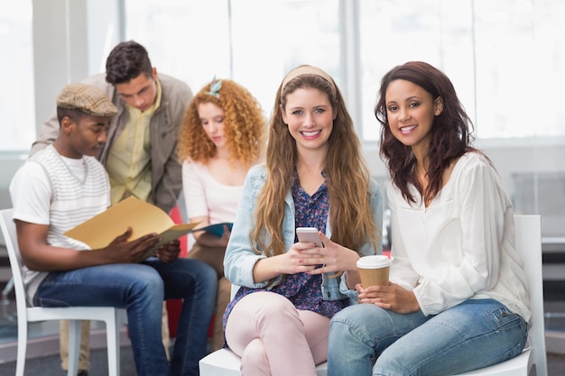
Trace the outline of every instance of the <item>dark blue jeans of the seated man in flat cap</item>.
<instances>
[{"instance_id":1,"label":"dark blue jeans of the seated man in flat cap","mask_svg":"<svg viewBox=\"0 0 565 376\"><path fill-rule=\"evenodd\" d=\"M51 272L33 304L41 307L125 307L139 376L199 375L216 306L216 271L202 261L109 264ZM171 365L162 346L162 301L183 299Z\"/></svg>"}]
</instances>

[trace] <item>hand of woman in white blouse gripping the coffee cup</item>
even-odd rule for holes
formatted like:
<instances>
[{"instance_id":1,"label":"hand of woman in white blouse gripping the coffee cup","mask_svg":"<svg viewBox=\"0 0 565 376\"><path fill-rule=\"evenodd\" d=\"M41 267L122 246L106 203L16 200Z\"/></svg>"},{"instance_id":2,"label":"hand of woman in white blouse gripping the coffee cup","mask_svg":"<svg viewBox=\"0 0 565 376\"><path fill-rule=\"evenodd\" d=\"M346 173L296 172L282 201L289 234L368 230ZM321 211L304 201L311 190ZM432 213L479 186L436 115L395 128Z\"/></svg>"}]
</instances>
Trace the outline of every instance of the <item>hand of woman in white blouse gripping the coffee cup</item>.
<instances>
[{"instance_id":1,"label":"hand of woman in white blouse gripping the coffee cup","mask_svg":"<svg viewBox=\"0 0 565 376\"><path fill-rule=\"evenodd\" d=\"M357 283L355 288L359 294L359 303L372 303L400 314L408 314L420 309L414 293L396 283L391 282L388 286L369 286L366 289Z\"/></svg>"}]
</instances>

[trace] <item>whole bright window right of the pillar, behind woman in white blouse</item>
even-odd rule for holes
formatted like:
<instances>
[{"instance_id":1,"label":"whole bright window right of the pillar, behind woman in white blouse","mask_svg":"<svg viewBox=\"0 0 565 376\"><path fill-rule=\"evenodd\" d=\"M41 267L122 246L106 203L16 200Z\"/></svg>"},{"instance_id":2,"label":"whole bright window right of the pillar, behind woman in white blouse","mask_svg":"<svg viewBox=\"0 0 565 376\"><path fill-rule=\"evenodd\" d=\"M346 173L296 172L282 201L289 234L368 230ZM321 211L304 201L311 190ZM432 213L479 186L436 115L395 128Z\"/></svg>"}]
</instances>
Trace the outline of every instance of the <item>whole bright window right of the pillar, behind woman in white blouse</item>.
<instances>
[{"instance_id":1,"label":"whole bright window right of the pillar, behind woman in white blouse","mask_svg":"<svg viewBox=\"0 0 565 376\"><path fill-rule=\"evenodd\" d=\"M361 0L363 135L376 140L379 79L425 60L453 81L477 138L565 135L563 5L551 0Z\"/></svg>"}]
</instances>

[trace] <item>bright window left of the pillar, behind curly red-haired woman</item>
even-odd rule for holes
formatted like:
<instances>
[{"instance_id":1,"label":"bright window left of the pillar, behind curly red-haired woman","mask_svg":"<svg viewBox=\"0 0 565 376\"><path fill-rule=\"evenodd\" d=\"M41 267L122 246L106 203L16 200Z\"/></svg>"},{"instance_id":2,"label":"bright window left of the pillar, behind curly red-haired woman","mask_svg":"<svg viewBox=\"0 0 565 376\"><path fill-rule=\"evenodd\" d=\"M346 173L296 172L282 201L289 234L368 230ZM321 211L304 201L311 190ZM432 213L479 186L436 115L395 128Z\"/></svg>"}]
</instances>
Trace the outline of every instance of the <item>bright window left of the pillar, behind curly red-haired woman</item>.
<instances>
[{"instance_id":1,"label":"bright window left of the pillar, behind curly red-haired woman","mask_svg":"<svg viewBox=\"0 0 565 376\"><path fill-rule=\"evenodd\" d=\"M125 14L126 39L144 44L158 71L195 92L232 78L265 115L290 69L317 65L339 78L338 0L129 0Z\"/></svg>"}]
</instances>

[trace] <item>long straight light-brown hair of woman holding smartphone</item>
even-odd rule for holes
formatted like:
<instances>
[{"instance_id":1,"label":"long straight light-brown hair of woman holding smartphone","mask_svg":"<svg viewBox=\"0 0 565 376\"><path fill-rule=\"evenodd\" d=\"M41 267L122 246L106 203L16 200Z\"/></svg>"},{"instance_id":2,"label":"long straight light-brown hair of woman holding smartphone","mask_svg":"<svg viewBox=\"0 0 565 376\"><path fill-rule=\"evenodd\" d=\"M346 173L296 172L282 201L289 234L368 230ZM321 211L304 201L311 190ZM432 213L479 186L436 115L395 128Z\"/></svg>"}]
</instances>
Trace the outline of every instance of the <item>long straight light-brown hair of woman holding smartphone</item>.
<instances>
[{"instance_id":1,"label":"long straight light-brown hair of woman holding smartphone","mask_svg":"<svg viewBox=\"0 0 565 376\"><path fill-rule=\"evenodd\" d=\"M329 78L327 74L325 76ZM267 179L257 198L255 224L249 234L251 246L257 253L264 252L270 257L286 252L281 232L284 197L292 188L292 174L298 157L296 142L282 121L281 113L286 106L286 97L307 87L326 93L332 108L338 112L328 140L324 169L329 193L331 240L356 251L367 240L373 243L375 250L378 248L379 233L370 203L370 173L343 97L333 79L329 79L331 82L319 74L302 73L283 80L284 85L277 90L269 123Z\"/></svg>"}]
</instances>

